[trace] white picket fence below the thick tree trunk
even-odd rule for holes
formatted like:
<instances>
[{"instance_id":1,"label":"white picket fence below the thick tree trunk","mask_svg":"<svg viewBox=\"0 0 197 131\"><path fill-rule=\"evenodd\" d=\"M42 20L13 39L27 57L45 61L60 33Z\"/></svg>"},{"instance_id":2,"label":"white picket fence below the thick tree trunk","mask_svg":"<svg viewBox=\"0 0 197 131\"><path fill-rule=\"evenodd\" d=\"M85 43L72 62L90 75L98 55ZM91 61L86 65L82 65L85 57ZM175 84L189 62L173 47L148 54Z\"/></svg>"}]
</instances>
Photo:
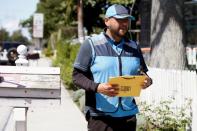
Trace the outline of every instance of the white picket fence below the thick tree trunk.
<instances>
[{"instance_id":1,"label":"white picket fence below the thick tree trunk","mask_svg":"<svg viewBox=\"0 0 197 131\"><path fill-rule=\"evenodd\" d=\"M149 68L148 74L153 79L153 85L143 90L141 101L152 103L175 98L176 105L185 103L185 98L192 99L192 131L197 131L197 74L192 71L166 70Z\"/></svg>"}]
</instances>

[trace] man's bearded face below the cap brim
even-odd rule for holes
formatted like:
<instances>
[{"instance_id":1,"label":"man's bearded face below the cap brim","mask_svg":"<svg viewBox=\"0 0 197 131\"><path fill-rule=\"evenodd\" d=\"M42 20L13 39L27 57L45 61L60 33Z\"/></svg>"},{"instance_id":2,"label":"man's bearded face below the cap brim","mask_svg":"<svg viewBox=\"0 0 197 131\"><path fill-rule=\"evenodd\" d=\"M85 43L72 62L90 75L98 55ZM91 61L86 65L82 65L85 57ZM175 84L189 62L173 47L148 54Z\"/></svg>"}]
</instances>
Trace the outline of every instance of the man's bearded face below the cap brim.
<instances>
[{"instance_id":1,"label":"man's bearded face below the cap brim","mask_svg":"<svg viewBox=\"0 0 197 131\"><path fill-rule=\"evenodd\" d=\"M123 37L128 31L129 19L116 19L116 18L107 18L105 20L106 26L109 27L111 33L115 34L118 37Z\"/></svg>"}]
</instances>

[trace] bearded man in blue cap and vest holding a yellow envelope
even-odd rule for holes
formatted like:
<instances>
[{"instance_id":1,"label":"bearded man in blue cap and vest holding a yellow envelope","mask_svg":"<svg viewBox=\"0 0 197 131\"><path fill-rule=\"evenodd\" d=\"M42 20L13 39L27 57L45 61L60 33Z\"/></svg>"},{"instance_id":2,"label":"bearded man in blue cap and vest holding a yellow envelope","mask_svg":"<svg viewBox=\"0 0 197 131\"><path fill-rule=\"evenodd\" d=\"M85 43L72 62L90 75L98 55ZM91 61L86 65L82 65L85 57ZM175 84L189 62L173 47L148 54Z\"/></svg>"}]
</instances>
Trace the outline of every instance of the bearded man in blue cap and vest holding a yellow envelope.
<instances>
[{"instance_id":1,"label":"bearded man in blue cap and vest holding a yellow envelope","mask_svg":"<svg viewBox=\"0 0 197 131\"><path fill-rule=\"evenodd\" d=\"M73 82L85 89L88 131L135 131L138 107L133 97L118 97L109 77L146 75L141 51L125 37L134 19L122 5L110 6L105 14L105 32L88 38L74 63ZM146 75L142 88L152 84Z\"/></svg>"}]
</instances>

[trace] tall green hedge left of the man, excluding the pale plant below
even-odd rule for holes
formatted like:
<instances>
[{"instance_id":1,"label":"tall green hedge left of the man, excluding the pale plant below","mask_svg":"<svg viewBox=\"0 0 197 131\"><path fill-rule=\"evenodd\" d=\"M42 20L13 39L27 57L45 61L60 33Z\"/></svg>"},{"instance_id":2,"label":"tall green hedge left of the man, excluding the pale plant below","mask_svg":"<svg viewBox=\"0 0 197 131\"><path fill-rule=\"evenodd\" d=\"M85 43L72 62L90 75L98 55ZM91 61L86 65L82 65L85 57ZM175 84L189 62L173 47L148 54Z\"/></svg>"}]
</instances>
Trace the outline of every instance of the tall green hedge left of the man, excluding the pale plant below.
<instances>
[{"instance_id":1,"label":"tall green hedge left of the man, excluding the pale plant below","mask_svg":"<svg viewBox=\"0 0 197 131\"><path fill-rule=\"evenodd\" d=\"M71 44L66 40L59 41L56 46L56 58L53 61L53 65L59 66L61 69L61 79L63 83L71 90L77 90L72 83L72 71L79 47L80 44Z\"/></svg>"}]
</instances>

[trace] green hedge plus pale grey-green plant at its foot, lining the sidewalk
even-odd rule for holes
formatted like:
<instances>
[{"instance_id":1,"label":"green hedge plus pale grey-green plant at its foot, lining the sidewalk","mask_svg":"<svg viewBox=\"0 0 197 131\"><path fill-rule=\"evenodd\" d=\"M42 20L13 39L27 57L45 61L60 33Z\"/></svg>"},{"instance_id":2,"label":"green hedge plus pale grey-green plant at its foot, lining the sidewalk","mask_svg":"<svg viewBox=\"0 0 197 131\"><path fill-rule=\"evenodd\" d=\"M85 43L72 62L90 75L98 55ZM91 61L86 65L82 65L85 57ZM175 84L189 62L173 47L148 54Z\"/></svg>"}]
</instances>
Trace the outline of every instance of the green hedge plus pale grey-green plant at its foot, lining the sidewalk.
<instances>
[{"instance_id":1,"label":"green hedge plus pale grey-green plant at its foot, lining the sidewalk","mask_svg":"<svg viewBox=\"0 0 197 131\"><path fill-rule=\"evenodd\" d=\"M66 40L57 42L56 44L56 58L53 61L54 66L61 68L61 80L65 87L69 89L74 102L78 105L79 109L83 112L85 105L85 92L78 90L72 83L73 63L78 53L80 44L71 44Z\"/></svg>"}]
</instances>

